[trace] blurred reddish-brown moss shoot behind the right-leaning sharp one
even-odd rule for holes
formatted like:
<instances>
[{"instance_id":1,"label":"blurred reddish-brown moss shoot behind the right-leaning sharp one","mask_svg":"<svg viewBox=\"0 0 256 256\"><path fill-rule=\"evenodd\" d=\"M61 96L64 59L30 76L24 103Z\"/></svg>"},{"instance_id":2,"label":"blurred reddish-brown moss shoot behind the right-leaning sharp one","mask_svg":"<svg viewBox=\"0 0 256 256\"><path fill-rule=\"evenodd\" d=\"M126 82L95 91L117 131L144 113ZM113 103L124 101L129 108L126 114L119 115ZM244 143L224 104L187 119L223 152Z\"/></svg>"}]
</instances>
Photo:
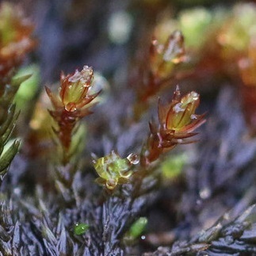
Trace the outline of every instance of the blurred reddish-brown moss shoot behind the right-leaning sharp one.
<instances>
[{"instance_id":1,"label":"blurred reddish-brown moss shoot behind the right-leaning sharp one","mask_svg":"<svg viewBox=\"0 0 256 256\"><path fill-rule=\"evenodd\" d=\"M186 59L184 37L180 31L170 34L165 44L159 43L156 38L151 40L149 54L136 77L136 119L147 109L152 97L156 97L163 87L174 84L175 68Z\"/></svg>"}]
</instances>

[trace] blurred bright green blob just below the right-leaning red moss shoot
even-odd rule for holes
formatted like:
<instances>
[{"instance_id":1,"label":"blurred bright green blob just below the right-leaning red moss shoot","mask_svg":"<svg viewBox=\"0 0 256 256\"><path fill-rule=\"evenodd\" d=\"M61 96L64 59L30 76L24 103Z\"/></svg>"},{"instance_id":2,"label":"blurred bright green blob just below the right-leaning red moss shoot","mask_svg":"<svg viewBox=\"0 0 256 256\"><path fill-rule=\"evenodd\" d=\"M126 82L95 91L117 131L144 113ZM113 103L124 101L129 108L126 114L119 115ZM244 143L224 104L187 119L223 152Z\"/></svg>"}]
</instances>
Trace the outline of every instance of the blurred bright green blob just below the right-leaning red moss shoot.
<instances>
[{"instance_id":1,"label":"blurred bright green blob just below the right-leaning red moss shoot","mask_svg":"<svg viewBox=\"0 0 256 256\"><path fill-rule=\"evenodd\" d=\"M163 180L171 181L181 175L185 163L188 161L188 156L185 154L171 155L164 162L162 162L162 176Z\"/></svg>"}]
</instances>

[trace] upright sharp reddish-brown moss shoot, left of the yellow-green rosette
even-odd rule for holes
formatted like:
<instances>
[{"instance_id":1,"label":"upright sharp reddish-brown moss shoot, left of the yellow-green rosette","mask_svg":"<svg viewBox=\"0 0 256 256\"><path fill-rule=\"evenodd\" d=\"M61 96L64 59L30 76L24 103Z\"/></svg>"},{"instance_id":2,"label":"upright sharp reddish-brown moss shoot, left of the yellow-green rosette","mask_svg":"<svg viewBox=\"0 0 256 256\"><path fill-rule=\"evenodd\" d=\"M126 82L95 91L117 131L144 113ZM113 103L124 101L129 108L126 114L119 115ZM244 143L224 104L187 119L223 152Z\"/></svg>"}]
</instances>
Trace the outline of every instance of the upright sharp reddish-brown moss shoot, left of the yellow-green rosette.
<instances>
[{"instance_id":1,"label":"upright sharp reddish-brown moss shoot, left of the yellow-green rosette","mask_svg":"<svg viewBox=\"0 0 256 256\"><path fill-rule=\"evenodd\" d=\"M54 132L63 147L64 164L70 158L71 138L75 125L82 117L92 113L91 101L99 94L90 94L93 78L93 69L84 66L82 71L76 70L74 74L61 74L59 95L53 94L48 87L45 88L54 108L49 110L49 113L58 124Z\"/></svg>"}]
</instances>

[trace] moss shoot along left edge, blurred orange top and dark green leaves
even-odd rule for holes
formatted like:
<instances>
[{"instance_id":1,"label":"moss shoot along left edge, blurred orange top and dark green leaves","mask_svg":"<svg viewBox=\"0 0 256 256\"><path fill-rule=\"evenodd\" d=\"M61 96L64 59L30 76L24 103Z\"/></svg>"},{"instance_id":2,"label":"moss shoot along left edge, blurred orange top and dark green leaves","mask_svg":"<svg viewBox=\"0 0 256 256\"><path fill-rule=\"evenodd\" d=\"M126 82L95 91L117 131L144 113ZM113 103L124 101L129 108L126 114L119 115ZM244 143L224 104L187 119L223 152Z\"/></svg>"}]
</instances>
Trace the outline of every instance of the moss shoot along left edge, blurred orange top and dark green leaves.
<instances>
[{"instance_id":1,"label":"moss shoot along left edge, blurred orange top and dark green leaves","mask_svg":"<svg viewBox=\"0 0 256 256\"><path fill-rule=\"evenodd\" d=\"M9 139L15 127L18 114L13 98L21 83L30 75L16 75L25 58L25 54L35 47L32 40L33 25L24 16L21 9L9 2L0 5L0 179L6 174L8 167L20 142Z\"/></svg>"}]
</instances>

